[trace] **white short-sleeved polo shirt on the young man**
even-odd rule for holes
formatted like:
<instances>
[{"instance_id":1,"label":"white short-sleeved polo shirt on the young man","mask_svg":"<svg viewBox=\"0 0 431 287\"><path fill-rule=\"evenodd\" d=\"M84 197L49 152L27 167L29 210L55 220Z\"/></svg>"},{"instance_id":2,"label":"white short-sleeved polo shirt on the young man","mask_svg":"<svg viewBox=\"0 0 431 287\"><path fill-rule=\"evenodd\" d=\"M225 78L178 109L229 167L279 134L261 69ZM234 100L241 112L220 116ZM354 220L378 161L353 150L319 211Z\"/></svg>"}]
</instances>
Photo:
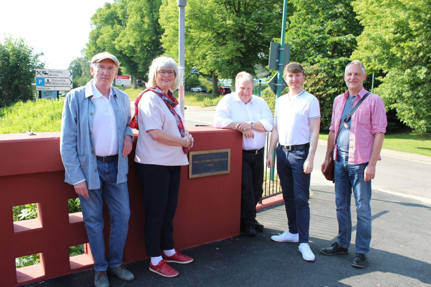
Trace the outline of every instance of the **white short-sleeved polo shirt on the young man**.
<instances>
[{"instance_id":1,"label":"white short-sleeved polo shirt on the young man","mask_svg":"<svg viewBox=\"0 0 431 287\"><path fill-rule=\"evenodd\" d=\"M275 102L274 116L280 145L303 145L310 142L309 120L320 117L319 101L305 90L290 100L286 94Z\"/></svg>"}]
</instances>

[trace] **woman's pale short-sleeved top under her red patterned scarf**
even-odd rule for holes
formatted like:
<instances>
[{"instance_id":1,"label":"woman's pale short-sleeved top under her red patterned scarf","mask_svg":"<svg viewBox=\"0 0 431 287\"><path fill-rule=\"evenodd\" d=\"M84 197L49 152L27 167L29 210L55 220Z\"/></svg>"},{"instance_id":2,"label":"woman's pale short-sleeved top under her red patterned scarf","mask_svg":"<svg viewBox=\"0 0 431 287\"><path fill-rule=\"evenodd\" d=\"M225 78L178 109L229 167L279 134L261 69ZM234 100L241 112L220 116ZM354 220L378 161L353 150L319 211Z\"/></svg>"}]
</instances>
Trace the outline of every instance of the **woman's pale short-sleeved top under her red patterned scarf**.
<instances>
[{"instance_id":1,"label":"woman's pale short-sleeved top under her red patterned scarf","mask_svg":"<svg viewBox=\"0 0 431 287\"><path fill-rule=\"evenodd\" d=\"M179 106L175 107L175 111L184 123ZM181 146L159 143L147 133L147 130L164 130L174 136L181 136L175 117L159 95L152 91L142 95L138 104L137 122L139 134L134 161L165 166L188 164L187 155Z\"/></svg>"}]
</instances>

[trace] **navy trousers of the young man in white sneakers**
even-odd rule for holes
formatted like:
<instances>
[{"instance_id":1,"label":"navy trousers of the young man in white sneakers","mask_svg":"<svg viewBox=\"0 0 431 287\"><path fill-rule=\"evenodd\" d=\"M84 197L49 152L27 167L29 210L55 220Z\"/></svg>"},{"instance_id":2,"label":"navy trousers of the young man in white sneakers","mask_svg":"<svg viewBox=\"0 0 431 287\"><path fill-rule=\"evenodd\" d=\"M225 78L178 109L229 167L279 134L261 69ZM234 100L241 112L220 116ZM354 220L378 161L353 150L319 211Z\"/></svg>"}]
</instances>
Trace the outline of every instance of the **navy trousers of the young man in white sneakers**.
<instances>
[{"instance_id":1,"label":"navy trousers of the young man in white sneakers","mask_svg":"<svg viewBox=\"0 0 431 287\"><path fill-rule=\"evenodd\" d=\"M283 191L290 233L299 233L299 243L308 243L310 227L310 173L304 173L309 149L284 151L277 147L277 172Z\"/></svg>"}]
</instances>

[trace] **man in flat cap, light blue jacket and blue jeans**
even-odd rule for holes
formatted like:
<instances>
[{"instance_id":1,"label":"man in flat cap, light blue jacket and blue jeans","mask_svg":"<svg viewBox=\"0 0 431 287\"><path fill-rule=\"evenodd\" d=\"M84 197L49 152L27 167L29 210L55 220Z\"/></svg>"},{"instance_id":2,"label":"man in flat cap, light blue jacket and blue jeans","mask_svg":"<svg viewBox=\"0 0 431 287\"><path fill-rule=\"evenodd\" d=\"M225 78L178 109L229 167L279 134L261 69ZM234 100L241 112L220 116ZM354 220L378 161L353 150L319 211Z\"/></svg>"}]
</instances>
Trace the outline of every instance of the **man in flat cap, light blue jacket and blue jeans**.
<instances>
[{"instance_id":1,"label":"man in flat cap, light blue jacket and blue jeans","mask_svg":"<svg viewBox=\"0 0 431 287\"><path fill-rule=\"evenodd\" d=\"M91 254L94 285L108 287L106 271L124 281L134 275L122 265L130 216L127 188L128 159L133 133L127 94L111 86L119 61L102 52L91 59L93 79L72 89L64 100L60 152L65 182L74 186L81 201ZM109 251L105 257L102 206L110 216Z\"/></svg>"}]
</instances>

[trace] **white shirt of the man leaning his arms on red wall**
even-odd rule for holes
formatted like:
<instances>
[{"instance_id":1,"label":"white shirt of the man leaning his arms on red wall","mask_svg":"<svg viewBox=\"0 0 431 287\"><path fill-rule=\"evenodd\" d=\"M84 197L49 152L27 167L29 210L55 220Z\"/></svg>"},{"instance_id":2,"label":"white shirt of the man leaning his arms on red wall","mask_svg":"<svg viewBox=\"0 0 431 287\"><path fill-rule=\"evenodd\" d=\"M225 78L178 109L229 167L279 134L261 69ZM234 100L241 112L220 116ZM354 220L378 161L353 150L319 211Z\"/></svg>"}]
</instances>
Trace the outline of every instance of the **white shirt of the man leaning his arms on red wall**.
<instances>
[{"instance_id":1,"label":"white shirt of the man leaning his arms on red wall","mask_svg":"<svg viewBox=\"0 0 431 287\"><path fill-rule=\"evenodd\" d=\"M251 96L250 102L244 104L237 93L224 96L214 114L214 127L222 129L232 122L260 122L267 132L272 130L274 122L272 113L265 100ZM254 139L243 135L243 149L254 150L265 146L266 133L253 130Z\"/></svg>"}]
</instances>

